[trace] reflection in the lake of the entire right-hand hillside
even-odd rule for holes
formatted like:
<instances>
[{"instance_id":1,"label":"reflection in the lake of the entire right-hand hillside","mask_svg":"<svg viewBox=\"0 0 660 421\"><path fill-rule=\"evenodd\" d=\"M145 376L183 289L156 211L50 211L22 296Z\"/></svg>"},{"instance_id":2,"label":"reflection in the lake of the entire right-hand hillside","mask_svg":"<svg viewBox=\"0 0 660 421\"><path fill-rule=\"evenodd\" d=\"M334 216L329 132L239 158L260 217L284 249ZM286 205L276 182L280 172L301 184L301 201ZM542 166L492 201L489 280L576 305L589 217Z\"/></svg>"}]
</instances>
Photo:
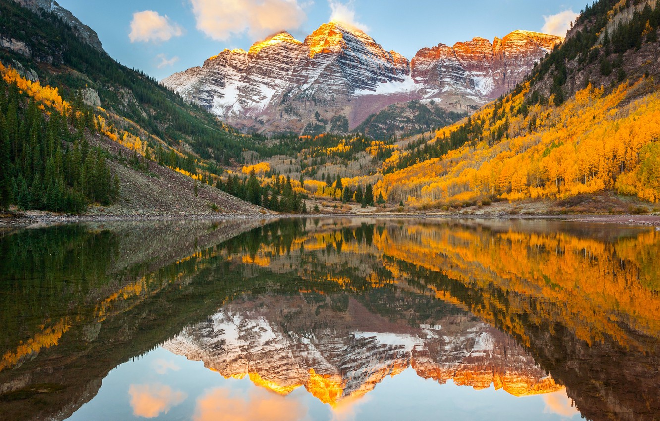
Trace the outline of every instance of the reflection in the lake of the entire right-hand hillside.
<instances>
[{"instance_id":1,"label":"reflection in the lake of the entire right-hand hillside","mask_svg":"<svg viewBox=\"0 0 660 421\"><path fill-rule=\"evenodd\" d=\"M313 226L286 257L269 245L251 255L319 286L431 294L511 333L588 418L659 418L660 235L589 233L559 222L348 220Z\"/></svg>"}]
</instances>

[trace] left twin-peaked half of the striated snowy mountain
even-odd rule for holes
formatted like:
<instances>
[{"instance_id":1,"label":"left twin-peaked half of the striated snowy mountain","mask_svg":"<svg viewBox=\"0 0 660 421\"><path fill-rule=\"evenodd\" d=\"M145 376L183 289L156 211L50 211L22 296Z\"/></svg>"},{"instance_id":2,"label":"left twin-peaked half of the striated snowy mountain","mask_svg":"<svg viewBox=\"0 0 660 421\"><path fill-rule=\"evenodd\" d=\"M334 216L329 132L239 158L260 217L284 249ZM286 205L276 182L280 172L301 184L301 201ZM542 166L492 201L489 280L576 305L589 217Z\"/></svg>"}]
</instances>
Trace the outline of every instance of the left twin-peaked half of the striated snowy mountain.
<instances>
[{"instance_id":1,"label":"left twin-peaked half of the striated snowy mountain","mask_svg":"<svg viewBox=\"0 0 660 421\"><path fill-rule=\"evenodd\" d=\"M409 69L361 30L331 22L304 42L280 32L248 51L225 49L163 82L238 127L300 131L345 114L360 90L405 81Z\"/></svg>"}]
</instances>

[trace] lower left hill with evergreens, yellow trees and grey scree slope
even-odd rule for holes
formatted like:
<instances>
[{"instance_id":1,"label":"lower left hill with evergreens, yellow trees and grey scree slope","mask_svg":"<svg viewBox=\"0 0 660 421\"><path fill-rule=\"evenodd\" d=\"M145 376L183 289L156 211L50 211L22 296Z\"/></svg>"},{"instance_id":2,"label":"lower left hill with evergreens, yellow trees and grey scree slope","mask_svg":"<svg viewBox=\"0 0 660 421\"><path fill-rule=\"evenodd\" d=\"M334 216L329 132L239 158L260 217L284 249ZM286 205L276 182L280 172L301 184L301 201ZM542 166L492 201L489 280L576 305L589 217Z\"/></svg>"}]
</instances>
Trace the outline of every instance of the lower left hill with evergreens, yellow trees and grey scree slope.
<instances>
[{"instance_id":1,"label":"lower left hill with evergreens, yellow trees and grey scree slope","mask_svg":"<svg viewBox=\"0 0 660 421\"><path fill-rule=\"evenodd\" d=\"M184 170L139 156L102 121L82 102L0 64L0 206L104 216L259 214Z\"/></svg>"}]
</instances>

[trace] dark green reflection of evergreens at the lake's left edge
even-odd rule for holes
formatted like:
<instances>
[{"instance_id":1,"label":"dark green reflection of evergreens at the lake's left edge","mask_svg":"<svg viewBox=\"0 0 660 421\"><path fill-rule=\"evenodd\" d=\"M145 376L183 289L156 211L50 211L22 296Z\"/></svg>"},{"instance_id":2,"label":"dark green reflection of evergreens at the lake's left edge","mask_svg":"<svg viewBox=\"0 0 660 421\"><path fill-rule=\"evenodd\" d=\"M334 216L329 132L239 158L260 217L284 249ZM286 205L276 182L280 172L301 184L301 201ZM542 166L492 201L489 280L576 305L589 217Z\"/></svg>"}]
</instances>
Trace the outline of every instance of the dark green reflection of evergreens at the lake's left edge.
<instances>
[{"instance_id":1,"label":"dark green reflection of evergreens at the lake's left edge","mask_svg":"<svg viewBox=\"0 0 660 421\"><path fill-rule=\"evenodd\" d=\"M0 238L1 348L24 339L26 327L69 313L91 290L112 281L108 267L119 252L119 239L108 231L91 232L65 225L22 230ZM77 308L92 311L93 308Z\"/></svg>"}]
</instances>

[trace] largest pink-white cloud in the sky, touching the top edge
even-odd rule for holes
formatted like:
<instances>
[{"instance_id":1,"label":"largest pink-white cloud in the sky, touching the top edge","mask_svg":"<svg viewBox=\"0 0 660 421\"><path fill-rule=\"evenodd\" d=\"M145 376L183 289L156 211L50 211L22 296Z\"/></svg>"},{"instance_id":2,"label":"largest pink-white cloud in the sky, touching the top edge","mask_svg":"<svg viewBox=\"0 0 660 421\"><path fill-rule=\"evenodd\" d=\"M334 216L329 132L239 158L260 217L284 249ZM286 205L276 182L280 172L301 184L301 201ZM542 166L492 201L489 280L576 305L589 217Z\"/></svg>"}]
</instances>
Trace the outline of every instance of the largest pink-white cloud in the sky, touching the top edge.
<instances>
[{"instance_id":1,"label":"largest pink-white cloud in the sky, touching the top edge","mask_svg":"<svg viewBox=\"0 0 660 421\"><path fill-rule=\"evenodd\" d=\"M214 40L248 34L263 38L300 28L307 16L298 0L190 0L197 29Z\"/></svg>"}]
</instances>

